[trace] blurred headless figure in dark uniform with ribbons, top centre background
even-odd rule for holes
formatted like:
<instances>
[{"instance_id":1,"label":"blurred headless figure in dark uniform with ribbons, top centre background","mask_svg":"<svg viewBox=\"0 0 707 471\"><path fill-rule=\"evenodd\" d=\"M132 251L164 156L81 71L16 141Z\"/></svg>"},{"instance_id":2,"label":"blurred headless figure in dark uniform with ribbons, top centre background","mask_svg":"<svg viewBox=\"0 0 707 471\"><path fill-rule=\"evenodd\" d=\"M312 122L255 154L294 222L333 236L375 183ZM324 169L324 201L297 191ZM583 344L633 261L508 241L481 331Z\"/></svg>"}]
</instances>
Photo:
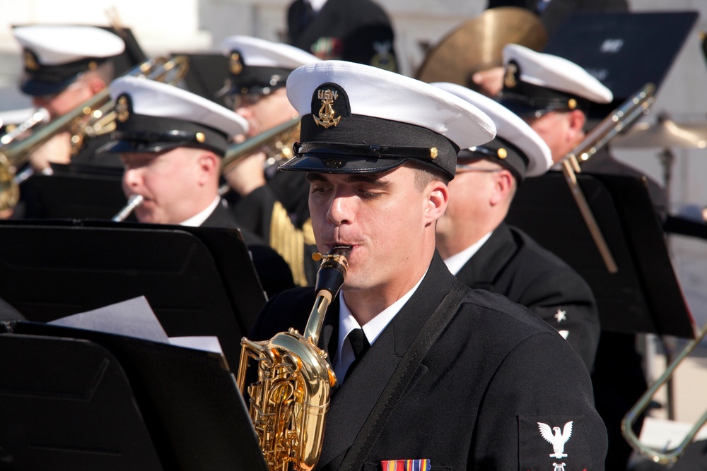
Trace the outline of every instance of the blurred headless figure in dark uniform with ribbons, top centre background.
<instances>
[{"instance_id":1,"label":"blurred headless figure in dark uniform with ribbons, top centre background","mask_svg":"<svg viewBox=\"0 0 707 471\"><path fill-rule=\"evenodd\" d=\"M398 70L390 18L371 0L295 0L287 11L287 37L320 59Z\"/></svg>"}]
</instances>

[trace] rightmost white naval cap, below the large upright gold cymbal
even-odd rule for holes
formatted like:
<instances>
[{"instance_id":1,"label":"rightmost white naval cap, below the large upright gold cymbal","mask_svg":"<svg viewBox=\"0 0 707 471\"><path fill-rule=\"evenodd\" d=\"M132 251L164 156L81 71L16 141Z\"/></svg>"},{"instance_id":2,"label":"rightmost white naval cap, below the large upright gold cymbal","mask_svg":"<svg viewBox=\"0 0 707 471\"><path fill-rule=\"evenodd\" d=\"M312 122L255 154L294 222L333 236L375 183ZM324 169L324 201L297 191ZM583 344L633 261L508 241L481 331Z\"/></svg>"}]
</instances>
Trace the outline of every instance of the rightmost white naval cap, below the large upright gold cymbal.
<instances>
[{"instance_id":1,"label":"rightmost white naval cap, below the large upright gold cymbal","mask_svg":"<svg viewBox=\"0 0 707 471\"><path fill-rule=\"evenodd\" d=\"M586 110L590 103L609 103L614 95L597 78L572 61L535 52L518 44L503 47L501 102L521 116L540 117L553 110Z\"/></svg>"}]
</instances>

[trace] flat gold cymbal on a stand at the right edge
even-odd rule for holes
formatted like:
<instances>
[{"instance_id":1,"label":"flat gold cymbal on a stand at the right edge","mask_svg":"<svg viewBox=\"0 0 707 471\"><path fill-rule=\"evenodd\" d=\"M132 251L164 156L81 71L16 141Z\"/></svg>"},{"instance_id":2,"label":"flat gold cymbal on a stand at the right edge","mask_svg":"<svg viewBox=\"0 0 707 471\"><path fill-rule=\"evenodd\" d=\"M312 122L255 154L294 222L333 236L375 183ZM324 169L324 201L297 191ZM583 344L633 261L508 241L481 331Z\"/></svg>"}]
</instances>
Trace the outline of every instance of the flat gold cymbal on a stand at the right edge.
<instances>
[{"instance_id":1,"label":"flat gold cymbal on a stand at the right edge","mask_svg":"<svg viewBox=\"0 0 707 471\"><path fill-rule=\"evenodd\" d=\"M678 124L671 119L635 124L612 139L621 148L707 148L707 123Z\"/></svg>"}]
</instances>

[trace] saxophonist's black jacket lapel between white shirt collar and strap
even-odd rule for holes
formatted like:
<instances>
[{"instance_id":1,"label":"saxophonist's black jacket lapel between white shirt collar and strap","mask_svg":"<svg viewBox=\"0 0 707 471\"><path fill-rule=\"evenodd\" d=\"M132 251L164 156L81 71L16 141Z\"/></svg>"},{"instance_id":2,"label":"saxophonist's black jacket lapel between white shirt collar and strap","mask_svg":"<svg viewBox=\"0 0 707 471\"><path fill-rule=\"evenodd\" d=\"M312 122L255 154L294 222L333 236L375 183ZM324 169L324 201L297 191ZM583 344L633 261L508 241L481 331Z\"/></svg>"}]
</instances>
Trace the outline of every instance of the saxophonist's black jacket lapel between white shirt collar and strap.
<instances>
[{"instance_id":1,"label":"saxophonist's black jacket lapel between white shirt collar and strap","mask_svg":"<svg viewBox=\"0 0 707 471\"><path fill-rule=\"evenodd\" d=\"M327 415L322 467L346 453L383 389L424 323L450 290L454 278L435 253L418 290L383 330L332 398ZM426 369L423 369L426 370ZM420 371L418 371L420 374Z\"/></svg>"}]
</instances>

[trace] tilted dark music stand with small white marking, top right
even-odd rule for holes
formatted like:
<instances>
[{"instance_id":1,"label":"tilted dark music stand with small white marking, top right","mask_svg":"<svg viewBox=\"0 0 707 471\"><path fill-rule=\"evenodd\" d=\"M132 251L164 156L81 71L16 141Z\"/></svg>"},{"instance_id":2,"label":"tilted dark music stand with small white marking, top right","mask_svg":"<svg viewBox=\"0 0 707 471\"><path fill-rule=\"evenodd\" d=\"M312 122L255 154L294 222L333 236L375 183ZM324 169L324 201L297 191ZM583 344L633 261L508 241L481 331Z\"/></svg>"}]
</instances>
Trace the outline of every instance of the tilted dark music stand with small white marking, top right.
<instances>
[{"instance_id":1,"label":"tilted dark music stand with small white marking, top right","mask_svg":"<svg viewBox=\"0 0 707 471\"><path fill-rule=\"evenodd\" d=\"M573 61L612 90L612 103L590 110L602 119L646 83L659 90L697 17L696 11L578 13L543 52Z\"/></svg>"}]
</instances>

